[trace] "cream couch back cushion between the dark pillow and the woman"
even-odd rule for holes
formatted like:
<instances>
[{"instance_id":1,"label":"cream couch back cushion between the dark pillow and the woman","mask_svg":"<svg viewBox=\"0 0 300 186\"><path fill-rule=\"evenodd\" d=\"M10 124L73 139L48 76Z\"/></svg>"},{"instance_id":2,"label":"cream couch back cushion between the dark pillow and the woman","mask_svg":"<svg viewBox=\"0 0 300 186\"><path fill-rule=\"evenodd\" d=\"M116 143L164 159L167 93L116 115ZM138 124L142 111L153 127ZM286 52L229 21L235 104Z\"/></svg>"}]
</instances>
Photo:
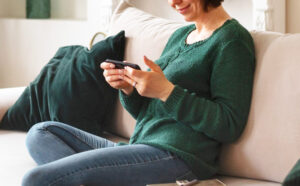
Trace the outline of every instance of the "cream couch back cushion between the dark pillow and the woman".
<instances>
[{"instance_id":1,"label":"cream couch back cushion between the dark pillow and the woman","mask_svg":"<svg viewBox=\"0 0 300 186\"><path fill-rule=\"evenodd\" d=\"M125 60L139 64L143 70L146 65L143 56L152 60L160 57L168 38L184 24L155 17L123 1L119 4L111 20L109 35L125 30ZM129 138L135 127L135 120L117 103L116 121L111 131Z\"/></svg>"}]
</instances>

